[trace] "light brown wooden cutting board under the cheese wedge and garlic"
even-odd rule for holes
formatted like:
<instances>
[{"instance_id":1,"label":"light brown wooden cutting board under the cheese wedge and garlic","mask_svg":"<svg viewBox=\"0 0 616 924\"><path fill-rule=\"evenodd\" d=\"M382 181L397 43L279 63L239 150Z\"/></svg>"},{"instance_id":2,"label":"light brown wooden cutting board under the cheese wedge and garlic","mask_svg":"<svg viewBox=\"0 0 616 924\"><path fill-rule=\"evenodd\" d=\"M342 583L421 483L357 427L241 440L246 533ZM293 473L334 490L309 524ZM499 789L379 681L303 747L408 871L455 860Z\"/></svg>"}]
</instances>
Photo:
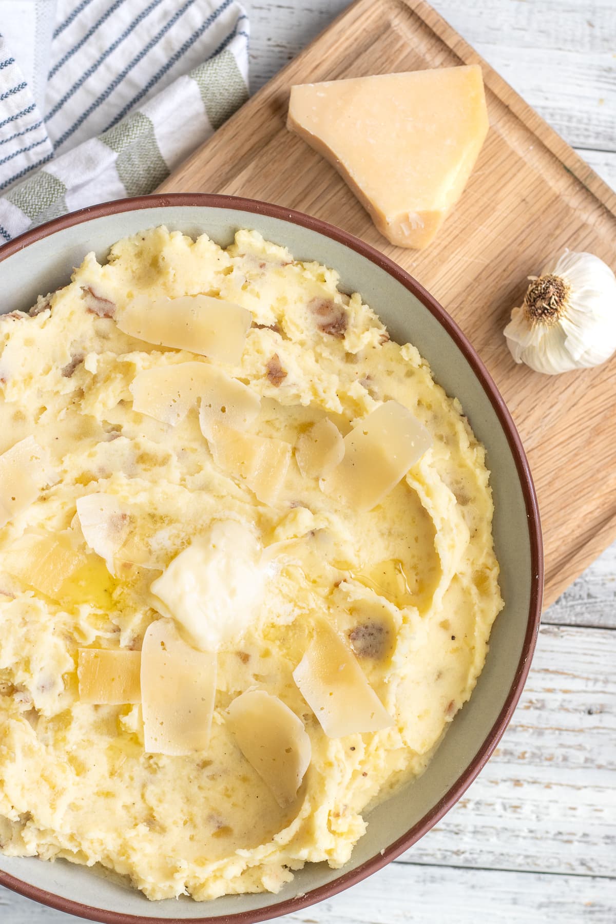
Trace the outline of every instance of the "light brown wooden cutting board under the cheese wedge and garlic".
<instances>
[{"instance_id":1,"label":"light brown wooden cutting board under the cheese wedge and garlic","mask_svg":"<svg viewBox=\"0 0 616 924\"><path fill-rule=\"evenodd\" d=\"M462 200L424 251L393 247L343 180L285 128L294 83L478 63L490 130ZM502 328L526 276L564 247L616 267L616 194L422 0L358 0L161 187L276 202L388 254L450 312L495 379L537 486L549 605L616 538L616 357L542 376ZM616 306L614 306L616 310Z\"/></svg>"}]
</instances>

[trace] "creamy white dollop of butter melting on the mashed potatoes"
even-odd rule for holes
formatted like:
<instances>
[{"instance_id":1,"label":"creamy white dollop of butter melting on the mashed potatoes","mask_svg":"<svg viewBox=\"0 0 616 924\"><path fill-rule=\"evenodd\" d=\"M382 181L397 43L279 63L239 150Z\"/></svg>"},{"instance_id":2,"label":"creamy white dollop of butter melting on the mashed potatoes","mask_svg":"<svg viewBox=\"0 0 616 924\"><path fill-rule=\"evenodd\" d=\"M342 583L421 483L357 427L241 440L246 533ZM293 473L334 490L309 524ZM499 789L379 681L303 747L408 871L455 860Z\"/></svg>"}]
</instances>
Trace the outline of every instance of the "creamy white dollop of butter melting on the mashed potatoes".
<instances>
[{"instance_id":1,"label":"creamy white dollop of butter melting on the mashed potatoes","mask_svg":"<svg viewBox=\"0 0 616 924\"><path fill-rule=\"evenodd\" d=\"M236 520L214 523L151 584L152 605L191 645L217 651L241 638L256 617L266 578L260 543Z\"/></svg>"}]
</instances>

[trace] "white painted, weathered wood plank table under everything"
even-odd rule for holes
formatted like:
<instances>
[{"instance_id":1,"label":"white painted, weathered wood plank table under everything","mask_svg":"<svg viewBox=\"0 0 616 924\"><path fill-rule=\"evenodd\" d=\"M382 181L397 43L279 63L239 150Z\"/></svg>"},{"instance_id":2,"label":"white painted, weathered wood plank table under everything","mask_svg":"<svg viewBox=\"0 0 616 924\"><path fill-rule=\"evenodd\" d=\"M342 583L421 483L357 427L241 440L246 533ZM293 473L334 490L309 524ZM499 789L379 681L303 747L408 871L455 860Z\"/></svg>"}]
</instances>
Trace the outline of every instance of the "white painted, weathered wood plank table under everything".
<instances>
[{"instance_id":1,"label":"white painted, weathered wood plank table under everything","mask_svg":"<svg viewBox=\"0 0 616 924\"><path fill-rule=\"evenodd\" d=\"M616 187L616 0L433 5ZM248 3L252 90L344 6ZM615 771L616 544L544 614L513 722L458 805L398 862L286 919L615 924ZM0 889L2 924L69 920Z\"/></svg>"}]
</instances>

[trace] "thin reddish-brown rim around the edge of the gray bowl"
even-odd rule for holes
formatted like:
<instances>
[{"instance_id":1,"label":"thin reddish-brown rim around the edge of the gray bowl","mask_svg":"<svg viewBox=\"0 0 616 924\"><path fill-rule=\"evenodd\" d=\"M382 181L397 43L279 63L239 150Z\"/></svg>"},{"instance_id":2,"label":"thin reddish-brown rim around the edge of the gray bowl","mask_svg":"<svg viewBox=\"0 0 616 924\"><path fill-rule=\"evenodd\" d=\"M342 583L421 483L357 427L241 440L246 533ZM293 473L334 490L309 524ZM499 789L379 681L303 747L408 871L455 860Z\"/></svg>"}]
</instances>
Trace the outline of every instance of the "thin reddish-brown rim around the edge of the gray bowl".
<instances>
[{"instance_id":1,"label":"thin reddish-brown rim around the edge of the gray bowl","mask_svg":"<svg viewBox=\"0 0 616 924\"><path fill-rule=\"evenodd\" d=\"M382 852L377 853L374 857L366 860L356 869L343 873L337 879L326 885L321 885L308 893L297 895L294 898L286 899L279 904L257 908L252 911L239 911L236 914L225 915L223 917L204 917L204 918L150 918L147 915L124 914L117 911L104 911L101 908L95 908L89 905L82 905L71 899L63 898L38 886L30 885L29 882L22 881L15 876L0 870L0 884L8 889L25 895L27 898L34 899L42 905L47 905L66 914L78 915L81 918L87 918L93 921L100 921L102 924L258 924L268 918L278 918L285 914L298 911L301 908L314 905L324 899L331 898L332 895L343 892L350 886L355 885L367 878L371 873L386 866L400 854L404 853L411 845L415 844L420 837L429 831L442 816L449 811L457 800L465 793L468 786L475 780L478 772L485 766L494 748L501 740L507 725L509 724L515 706L522 693L525 679L530 669L530 663L535 650L539 621L541 618L541 604L543 599L543 544L541 538L541 526L539 520L537 494L533 484L528 460L525 456L524 447L520 436L515 428L513 419L509 410L492 380L489 371L479 359L475 348L471 346L465 334L462 333L453 318L445 311L441 304L429 294L410 274L406 273L402 267L398 266L389 257L386 257L380 250L370 247L364 241L348 231L342 230L335 225L322 221L320 218L314 218L302 212L296 212L294 209L284 208L282 205L274 205L270 202L262 202L254 199L244 199L240 196L226 196L217 193L158 193L150 196L135 196L128 199L103 202L99 205L93 205L86 209L80 209L79 212L68 213L59 218L54 218L44 225L38 225L29 231L15 237L0 247L0 262L7 257L29 247L35 241L42 237L48 237L57 231L62 231L72 225L80 225L88 222L93 218L102 218L106 215L118 214L123 212L134 212L139 209L163 208L165 206L207 206L210 208L234 209L242 212L251 212L260 215L267 215L272 218L279 218L295 225L302 225L311 231L317 231L325 237L331 237L333 240L344 244L346 247L356 250L361 256L375 263L380 269L385 270L407 288L419 301L427 308L434 317L441 322L441 326L447 334L453 339L460 351L465 356L466 361L475 372L478 381L481 383L484 392L489 397L489 401L501 423L507 442L515 460L518 477L522 486L522 492L525 498L526 517L528 519L528 532L530 539L531 553L531 593L528 608L528 622L522 653L517 665L513 684L507 699L499 713L496 722L492 725L488 735L485 737L483 745L477 751L474 759L461 773L456 782L441 797L439 802L431 810L413 825L402 837L398 838L393 844L385 847Z\"/></svg>"}]
</instances>

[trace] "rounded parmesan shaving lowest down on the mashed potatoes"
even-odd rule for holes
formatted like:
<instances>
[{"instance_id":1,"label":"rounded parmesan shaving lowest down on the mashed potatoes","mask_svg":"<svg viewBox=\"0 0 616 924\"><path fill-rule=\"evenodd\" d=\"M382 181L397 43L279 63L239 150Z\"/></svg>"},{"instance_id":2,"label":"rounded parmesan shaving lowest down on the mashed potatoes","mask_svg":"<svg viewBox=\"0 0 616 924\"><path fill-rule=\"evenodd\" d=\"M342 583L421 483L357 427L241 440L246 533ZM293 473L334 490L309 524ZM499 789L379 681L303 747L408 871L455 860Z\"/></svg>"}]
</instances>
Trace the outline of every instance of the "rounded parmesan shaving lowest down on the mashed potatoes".
<instances>
[{"instance_id":1,"label":"rounded parmesan shaving lowest down on the mashed potatoes","mask_svg":"<svg viewBox=\"0 0 616 924\"><path fill-rule=\"evenodd\" d=\"M304 723L282 699L248 690L233 700L227 724L237 747L282 808L291 805L310 763Z\"/></svg>"}]
</instances>

